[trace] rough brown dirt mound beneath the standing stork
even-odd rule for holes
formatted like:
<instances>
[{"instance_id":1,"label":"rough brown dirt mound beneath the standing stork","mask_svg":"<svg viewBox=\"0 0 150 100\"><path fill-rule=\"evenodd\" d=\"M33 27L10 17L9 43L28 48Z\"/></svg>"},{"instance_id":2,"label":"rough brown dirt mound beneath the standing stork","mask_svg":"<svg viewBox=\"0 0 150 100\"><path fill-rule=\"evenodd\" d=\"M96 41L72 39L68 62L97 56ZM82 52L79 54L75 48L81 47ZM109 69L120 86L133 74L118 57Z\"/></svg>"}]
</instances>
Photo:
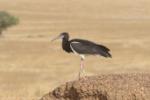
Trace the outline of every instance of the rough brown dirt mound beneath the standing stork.
<instances>
[{"instance_id":1,"label":"rough brown dirt mound beneath the standing stork","mask_svg":"<svg viewBox=\"0 0 150 100\"><path fill-rule=\"evenodd\" d=\"M150 100L150 74L115 74L67 82L41 100Z\"/></svg>"}]
</instances>

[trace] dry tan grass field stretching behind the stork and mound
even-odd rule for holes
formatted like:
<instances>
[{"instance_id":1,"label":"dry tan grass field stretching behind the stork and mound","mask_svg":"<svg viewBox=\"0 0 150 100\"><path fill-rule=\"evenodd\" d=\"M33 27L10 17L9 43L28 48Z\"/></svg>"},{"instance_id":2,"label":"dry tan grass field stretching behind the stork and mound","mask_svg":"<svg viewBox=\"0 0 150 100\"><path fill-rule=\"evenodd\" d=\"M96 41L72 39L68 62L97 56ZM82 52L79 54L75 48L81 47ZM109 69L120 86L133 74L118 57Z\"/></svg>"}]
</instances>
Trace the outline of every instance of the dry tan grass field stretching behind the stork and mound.
<instances>
[{"instance_id":1,"label":"dry tan grass field stretching behind the stork and mound","mask_svg":"<svg viewBox=\"0 0 150 100\"><path fill-rule=\"evenodd\" d=\"M0 99L37 100L77 79L80 58L65 53L61 41L50 43L64 31L111 49L112 59L86 58L87 75L150 72L149 5L148 0L0 0L0 10L20 19L0 38Z\"/></svg>"}]
</instances>

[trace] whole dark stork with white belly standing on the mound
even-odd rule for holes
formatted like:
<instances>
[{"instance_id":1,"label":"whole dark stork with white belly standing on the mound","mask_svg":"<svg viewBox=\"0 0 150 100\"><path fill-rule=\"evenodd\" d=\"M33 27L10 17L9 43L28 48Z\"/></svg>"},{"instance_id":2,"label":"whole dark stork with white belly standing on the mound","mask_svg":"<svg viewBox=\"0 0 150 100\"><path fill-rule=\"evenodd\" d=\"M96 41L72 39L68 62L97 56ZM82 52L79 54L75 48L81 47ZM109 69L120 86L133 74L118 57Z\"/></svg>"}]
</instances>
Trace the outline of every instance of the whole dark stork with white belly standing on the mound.
<instances>
[{"instance_id":1,"label":"whole dark stork with white belly standing on the mound","mask_svg":"<svg viewBox=\"0 0 150 100\"><path fill-rule=\"evenodd\" d=\"M83 61L85 59L85 55L100 55L106 58L112 57L109 53L110 49L104 45L96 44L94 42L83 39L69 40L69 34L67 32L61 33L59 36L52 39L51 41L59 38L62 39L62 48L64 51L68 53L78 54L81 57L79 79L81 72L83 72Z\"/></svg>"}]
</instances>

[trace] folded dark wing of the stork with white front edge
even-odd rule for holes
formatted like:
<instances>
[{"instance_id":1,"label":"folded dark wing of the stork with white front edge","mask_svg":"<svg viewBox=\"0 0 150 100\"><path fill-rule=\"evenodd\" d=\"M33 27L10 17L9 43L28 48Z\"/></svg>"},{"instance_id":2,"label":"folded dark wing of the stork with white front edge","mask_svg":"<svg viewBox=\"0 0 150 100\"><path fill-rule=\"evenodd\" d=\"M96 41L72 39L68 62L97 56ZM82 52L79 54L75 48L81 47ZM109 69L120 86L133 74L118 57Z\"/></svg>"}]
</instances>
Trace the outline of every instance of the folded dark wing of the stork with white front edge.
<instances>
[{"instance_id":1,"label":"folded dark wing of the stork with white front edge","mask_svg":"<svg viewBox=\"0 0 150 100\"><path fill-rule=\"evenodd\" d=\"M70 41L70 47L79 54L100 54L104 57L111 57L110 50L107 47L88 40L73 39Z\"/></svg>"}]
</instances>

